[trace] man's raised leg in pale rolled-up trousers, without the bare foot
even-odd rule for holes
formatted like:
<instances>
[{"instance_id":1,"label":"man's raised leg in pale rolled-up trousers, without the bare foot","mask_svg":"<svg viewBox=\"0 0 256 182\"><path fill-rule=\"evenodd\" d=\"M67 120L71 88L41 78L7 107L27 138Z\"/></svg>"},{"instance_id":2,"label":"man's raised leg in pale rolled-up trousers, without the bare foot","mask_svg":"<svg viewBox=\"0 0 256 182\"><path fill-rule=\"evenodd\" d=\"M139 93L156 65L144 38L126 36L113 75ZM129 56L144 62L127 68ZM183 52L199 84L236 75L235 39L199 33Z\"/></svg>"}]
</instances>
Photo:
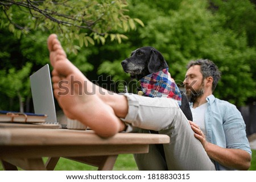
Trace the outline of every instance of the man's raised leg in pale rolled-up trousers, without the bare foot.
<instances>
[{"instance_id":1,"label":"man's raised leg in pale rolled-up trousers, without the bare foot","mask_svg":"<svg viewBox=\"0 0 256 182\"><path fill-rule=\"evenodd\" d=\"M170 137L171 142L163 145L168 170L215 169L202 144L194 137L187 118L174 100L128 94L126 97L129 102L129 112L123 121L134 127L155 130ZM151 155L154 155L154 150L146 155L140 154L136 160L137 165L142 169L148 168L150 164L154 167L155 158L147 158Z\"/></svg>"}]
</instances>

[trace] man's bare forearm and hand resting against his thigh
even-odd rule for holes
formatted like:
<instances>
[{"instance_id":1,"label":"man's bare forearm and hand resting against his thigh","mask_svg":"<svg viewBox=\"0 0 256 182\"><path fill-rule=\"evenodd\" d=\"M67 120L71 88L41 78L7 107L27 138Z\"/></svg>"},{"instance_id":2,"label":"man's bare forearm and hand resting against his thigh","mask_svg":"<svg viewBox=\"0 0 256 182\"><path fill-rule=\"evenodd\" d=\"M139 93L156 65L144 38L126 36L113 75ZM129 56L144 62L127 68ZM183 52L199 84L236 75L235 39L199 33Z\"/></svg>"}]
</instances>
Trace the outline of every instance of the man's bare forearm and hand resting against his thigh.
<instances>
[{"instance_id":1,"label":"man's bare forearm and hand resting against his thigh","mask_svg":"<svg viewBox=\"0 0 256 182\"><path fill-rule=\"evenodd\" d=\"M192 130L195 131L195 137L203 144L204 150L207 152L210 159L222 164L223 166L247 170L251 165L251 155L241 149L222 148L216 144L207 142L204 133L194 122L189 121Z\"/></svg>"}]
</instances>

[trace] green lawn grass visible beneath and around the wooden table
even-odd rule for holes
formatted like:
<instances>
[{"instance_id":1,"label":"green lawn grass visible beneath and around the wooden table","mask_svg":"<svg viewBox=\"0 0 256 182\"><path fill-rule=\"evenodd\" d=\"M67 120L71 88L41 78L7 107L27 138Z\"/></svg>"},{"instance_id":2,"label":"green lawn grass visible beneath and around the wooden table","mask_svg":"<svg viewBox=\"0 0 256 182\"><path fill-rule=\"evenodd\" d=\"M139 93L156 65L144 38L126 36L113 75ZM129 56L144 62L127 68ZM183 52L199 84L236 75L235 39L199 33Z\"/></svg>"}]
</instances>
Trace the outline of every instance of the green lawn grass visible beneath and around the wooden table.
<instances>
[{"instance_id":1,"label":"green lawn grass visible beneath and around the wooden table","mask_svg":"<svg viewBox=\"0 0 256 182\"><path fill-rule=\"evenodd\" d=\"M253 155L251 159L250 171L256 171L256 150L252 150ZM46 161L47 158L44 159ZM2 171L2 165L0 165L0 170ZM60 158L56 171L94 171L97 167L89 166L83 163L75 162L73 160ZM115 171L136 171L138 170L136 163L134 161L132 154L122 154L118 155L117 161L114 166Z\"/></svg>"}]
</instances>

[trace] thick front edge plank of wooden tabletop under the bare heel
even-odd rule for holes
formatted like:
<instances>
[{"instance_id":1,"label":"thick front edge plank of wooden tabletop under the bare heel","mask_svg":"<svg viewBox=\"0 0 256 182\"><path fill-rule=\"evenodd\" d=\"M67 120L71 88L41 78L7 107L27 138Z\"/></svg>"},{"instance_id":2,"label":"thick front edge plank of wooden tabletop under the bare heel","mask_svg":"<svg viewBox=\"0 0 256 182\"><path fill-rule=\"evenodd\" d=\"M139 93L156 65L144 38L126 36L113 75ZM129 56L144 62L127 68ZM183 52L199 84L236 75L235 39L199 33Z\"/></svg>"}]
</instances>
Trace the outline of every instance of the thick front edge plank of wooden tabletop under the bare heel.
<instances>
[{"instance_id":1,"label":"thick front edge plank of wooden tabletop under the bare heel","mask_svg":"<svg viewBox=\"0 0 256 182\"><path fill-rule=\"evenodd\" d=\"M67 129L0 129L0 146L78 145L78 144L158 144L169 143L170 138L161 134L118 133L101 138L93 131Z\"/></svg>"}]
</instances>

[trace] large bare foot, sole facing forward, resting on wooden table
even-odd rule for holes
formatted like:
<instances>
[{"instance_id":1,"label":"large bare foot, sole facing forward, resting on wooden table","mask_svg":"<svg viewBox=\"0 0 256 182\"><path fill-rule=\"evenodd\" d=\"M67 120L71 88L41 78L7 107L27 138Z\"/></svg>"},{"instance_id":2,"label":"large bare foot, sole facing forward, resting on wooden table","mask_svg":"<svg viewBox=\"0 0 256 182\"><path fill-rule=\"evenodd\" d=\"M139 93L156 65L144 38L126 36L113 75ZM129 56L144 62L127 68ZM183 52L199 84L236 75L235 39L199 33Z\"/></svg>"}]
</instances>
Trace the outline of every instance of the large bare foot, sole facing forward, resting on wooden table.
<instances>
[{"instance_id":1,"label":"large bare foot, sole facing forward, resting on wooden table","mask_svg":"<svg viewBox=\"0 0 256 182\"><path fill-rule=\"evenodd\" d=\"M48 38L48 49L53 67L53 93L65 115L89 126L101 137L122 131L123 122L112 107L97 96L92 82L67 59L55 34Z\"/></svg>"}]
</instances>

